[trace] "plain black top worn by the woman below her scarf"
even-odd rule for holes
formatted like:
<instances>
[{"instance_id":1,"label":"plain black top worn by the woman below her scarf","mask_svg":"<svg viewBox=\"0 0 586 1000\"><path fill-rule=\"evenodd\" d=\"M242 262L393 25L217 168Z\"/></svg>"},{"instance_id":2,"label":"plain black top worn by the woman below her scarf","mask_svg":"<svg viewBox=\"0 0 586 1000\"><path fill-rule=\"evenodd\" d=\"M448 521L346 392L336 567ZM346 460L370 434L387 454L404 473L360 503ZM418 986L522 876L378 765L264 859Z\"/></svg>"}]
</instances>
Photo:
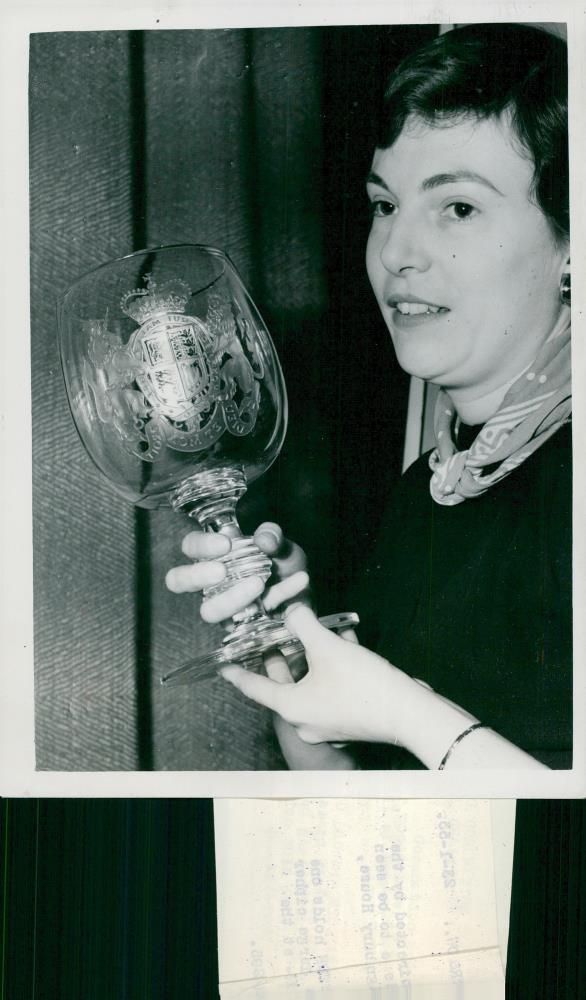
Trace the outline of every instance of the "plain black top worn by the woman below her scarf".
<instances>
[{"instance_id":1,"label":"plain black top worn by the woman below her scarf","mask_svg":"<svg viewBox=\"0 0 586 1000\"><path fill-rule=\"evenodd\" d=\"M571 427L453 507L402 476L360 589L360 640L544 764L572 765ZM369 768L418 768L362 747Z\"/></svg>"}]
</instances>

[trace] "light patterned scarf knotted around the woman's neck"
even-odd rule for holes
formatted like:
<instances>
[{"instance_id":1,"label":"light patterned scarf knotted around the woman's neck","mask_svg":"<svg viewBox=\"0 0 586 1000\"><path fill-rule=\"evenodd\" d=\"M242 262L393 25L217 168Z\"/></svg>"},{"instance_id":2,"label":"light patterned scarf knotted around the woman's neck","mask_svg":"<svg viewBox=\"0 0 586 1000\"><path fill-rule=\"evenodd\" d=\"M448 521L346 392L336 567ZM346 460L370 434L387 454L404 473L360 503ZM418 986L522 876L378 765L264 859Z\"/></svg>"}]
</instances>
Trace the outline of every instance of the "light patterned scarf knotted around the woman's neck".
<instances>
[{"instance_id":1,"label":"light patterned scarf knotted around the woman's neck","mask_svg":"<svg viewBox=\"0 0 586 1000\"><path fill-rule=\"evenodd\" d=\"M570 379L570 320L564 313L535 361L464 451L457 451L452 439L455 409L442 389L434 416L437 447L429 458L433 499L451 507L481 496L529 458L569 421Z\"/></svg>"}]
</instances>

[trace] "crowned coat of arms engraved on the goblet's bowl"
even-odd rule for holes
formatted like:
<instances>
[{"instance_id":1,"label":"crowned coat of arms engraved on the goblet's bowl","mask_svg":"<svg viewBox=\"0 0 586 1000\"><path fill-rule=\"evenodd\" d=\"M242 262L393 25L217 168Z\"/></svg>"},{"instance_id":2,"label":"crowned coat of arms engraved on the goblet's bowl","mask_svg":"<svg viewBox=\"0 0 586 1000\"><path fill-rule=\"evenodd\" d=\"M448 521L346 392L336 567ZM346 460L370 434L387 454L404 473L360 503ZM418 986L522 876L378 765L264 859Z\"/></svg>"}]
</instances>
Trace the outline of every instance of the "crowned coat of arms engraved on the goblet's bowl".
<instances>
[{"instance_id":1,"label":"crowned coat of arms engraved on the goblet's bowl","mask_svg":"<svg viewBox=\"0 0 586 1000\"><path fill-rule=\"evenodd\" d=\"M120 303L139 324L125 346L107 318L89 321L83 391L98 418L146 461L165 446L197 452L225 432L249 434L264 376L249 319L235 300L213 294L204 319L189 316L184 281L144 280L145 288L127 292Z\"/></svg>"}]
</instances>

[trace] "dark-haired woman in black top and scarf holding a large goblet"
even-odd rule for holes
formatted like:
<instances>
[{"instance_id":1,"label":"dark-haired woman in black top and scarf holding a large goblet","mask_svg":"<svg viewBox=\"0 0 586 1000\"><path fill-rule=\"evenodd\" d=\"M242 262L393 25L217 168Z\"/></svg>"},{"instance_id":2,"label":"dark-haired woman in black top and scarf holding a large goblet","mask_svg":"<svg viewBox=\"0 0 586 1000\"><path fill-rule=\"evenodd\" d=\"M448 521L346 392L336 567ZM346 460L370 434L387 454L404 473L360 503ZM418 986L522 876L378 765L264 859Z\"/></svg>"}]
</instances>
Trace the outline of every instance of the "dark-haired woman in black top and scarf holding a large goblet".
<instances>
[{"instance_id":1,"label":"dark-haired woman in black top and scarf holding a large goblet","mask_svg":"<svg viewBox=\"0 0 586 1000\"><path fill-rule=\"evenodd\" d=\"M571 766L566 86L563 42L521 25L448 32L392 76L366 263L399 363L441 387L436 448L403 476L366 567L370 648L293 606L301 681L278 656L268 677L223 671L277 713L292 767L355 766L336 746L350 741L391 748L363 766ZM280 581L267 608L303 605L303 554L276 525L255 537ZM228 547L191 533L196 561L170 589L221 578ZM202 616L262 589L243 581Z\"/></svg>"}]
</instances>

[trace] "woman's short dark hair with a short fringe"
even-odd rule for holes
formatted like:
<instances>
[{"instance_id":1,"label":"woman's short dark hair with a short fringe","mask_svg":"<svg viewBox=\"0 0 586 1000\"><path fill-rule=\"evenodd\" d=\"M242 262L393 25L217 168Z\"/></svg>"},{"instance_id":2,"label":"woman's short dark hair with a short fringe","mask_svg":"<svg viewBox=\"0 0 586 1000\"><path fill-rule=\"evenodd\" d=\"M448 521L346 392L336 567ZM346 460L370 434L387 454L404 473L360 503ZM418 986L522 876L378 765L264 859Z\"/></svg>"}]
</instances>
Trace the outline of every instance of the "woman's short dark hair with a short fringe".
<instances>
[{"instance_id":1,"label":"woman's short dark hair with a short fringe","mask_svg":"<svg viewBox=\"0 0 586 1000\"><path fill-rule=\"evenodd\" d=\"M470 24L403 59L383 102L377 145L387 149L407 119L433 125L510 116L534 164L532 195L556 238L569 239L567 47L523 24Z\"/></svg>"}]
</instances>

